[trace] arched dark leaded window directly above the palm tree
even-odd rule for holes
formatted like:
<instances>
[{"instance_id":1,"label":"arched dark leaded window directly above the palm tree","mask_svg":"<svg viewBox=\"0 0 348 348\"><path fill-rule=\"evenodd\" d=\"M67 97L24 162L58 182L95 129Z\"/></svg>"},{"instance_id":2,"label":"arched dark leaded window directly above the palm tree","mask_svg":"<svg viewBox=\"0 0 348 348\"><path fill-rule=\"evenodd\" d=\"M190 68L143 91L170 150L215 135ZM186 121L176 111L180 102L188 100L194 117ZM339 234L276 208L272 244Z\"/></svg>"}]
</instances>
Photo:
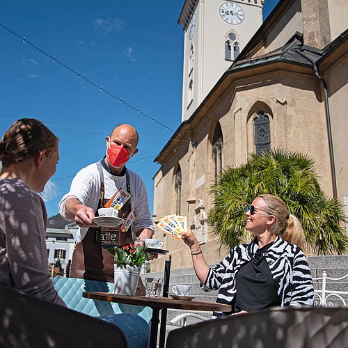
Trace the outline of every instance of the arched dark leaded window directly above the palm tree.
<instances>
[{"instance_id":1,"label":"arched dark leaded window directly above the palm tree","mask_svg":"<svg viewBox=\"0 0 348 348\"><path fill-rule=\"evenodd\" d=\"M259 111L258 116L253 120L255 153L261 155L262 152L271 150L271 132L269 130L269 118L263 112Z\"/></svg>"}]
</instances>

